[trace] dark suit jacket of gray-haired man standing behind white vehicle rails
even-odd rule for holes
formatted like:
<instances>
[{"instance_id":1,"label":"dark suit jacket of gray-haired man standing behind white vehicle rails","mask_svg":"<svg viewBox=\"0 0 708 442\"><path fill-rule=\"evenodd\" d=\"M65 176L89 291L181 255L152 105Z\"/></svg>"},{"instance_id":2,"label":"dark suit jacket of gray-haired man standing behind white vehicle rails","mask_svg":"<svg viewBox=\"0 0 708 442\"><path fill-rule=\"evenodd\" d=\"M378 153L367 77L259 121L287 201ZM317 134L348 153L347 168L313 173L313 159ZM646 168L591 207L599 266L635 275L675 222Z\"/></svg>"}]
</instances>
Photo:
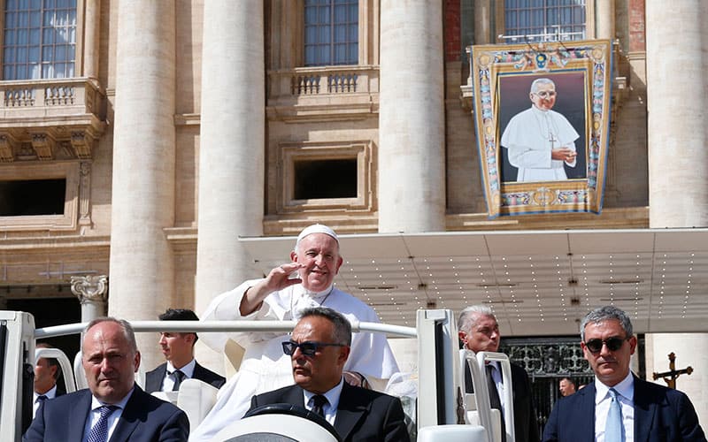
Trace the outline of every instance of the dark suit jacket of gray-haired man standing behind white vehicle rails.
<instances>
[{"instance_id":1,"label":"dark suit jacket of gray-haired man standing behind white vehicle rails","mask_svg":"<svg viewBox=\"0 0 708 442\"><path fill-rule=\"evenodd\" d=\"M534 410L534 398L531 394L531 383L526 370L515 363L512 366L512 395L514 399L514 432L517 442L538 442L538 423ZM473 392L472 377L465 372L466 391Z\"/></svg>"}]
</instances>

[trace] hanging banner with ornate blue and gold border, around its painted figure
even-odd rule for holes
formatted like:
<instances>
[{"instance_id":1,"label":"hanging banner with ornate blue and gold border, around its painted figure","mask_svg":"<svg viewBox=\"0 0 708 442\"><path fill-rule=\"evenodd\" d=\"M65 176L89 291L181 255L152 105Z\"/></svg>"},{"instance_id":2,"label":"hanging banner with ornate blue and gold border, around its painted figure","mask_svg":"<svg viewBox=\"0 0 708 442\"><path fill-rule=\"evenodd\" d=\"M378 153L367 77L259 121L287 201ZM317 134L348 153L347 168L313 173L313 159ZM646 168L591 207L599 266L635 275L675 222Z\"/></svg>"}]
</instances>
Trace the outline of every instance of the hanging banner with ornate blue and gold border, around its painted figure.
<instances>
[{"instance_id":1,"label":"hanging banner with ornate blue and gold border, around its painted figure","mask_svg":"<svg viewBox=\"0 0 708 442\"><path fill-rule=\"evenodd\" d=\"M611 43L473 46L472 56L474 126L489 217L599 214L610 141ZM509 120L531 107L529 88L538 78L556 84L553 110L565 116L579 134L575 141L578 156L575 167L563 166L567 178L522 182L517 181L518 169L510 164L500 142Z\"/></svg>"}]
</instances>

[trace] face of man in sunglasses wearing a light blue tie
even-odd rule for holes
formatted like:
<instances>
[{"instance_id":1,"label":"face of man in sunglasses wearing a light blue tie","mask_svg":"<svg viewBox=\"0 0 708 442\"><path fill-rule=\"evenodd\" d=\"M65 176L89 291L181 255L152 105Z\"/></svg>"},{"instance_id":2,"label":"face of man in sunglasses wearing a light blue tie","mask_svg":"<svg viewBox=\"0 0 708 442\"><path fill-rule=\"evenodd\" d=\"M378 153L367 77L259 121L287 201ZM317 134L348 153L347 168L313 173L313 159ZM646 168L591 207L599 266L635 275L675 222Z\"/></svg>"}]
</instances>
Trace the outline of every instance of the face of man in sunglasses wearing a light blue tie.
<instances>
[{"instance_id":1,"label":"face of man in sunglasses wearing a light blue tie","mask_svg":"<svg viewBox=\"0 0 708 442\"><path fill-rule=\"evenodd\" d=\"M605 341L610 338L621 339L621 346L612 351ZM586 342L592 339L603 341L602 347L596 353L590 351ZM600 323L589 323L585 326L585 342L581 342L585 359L595 372L595 376L607 386L619 384L629 374L629 359L635 354L636 337L627 337L617 319L607 319Z\"/></svg>"}]
</instances>

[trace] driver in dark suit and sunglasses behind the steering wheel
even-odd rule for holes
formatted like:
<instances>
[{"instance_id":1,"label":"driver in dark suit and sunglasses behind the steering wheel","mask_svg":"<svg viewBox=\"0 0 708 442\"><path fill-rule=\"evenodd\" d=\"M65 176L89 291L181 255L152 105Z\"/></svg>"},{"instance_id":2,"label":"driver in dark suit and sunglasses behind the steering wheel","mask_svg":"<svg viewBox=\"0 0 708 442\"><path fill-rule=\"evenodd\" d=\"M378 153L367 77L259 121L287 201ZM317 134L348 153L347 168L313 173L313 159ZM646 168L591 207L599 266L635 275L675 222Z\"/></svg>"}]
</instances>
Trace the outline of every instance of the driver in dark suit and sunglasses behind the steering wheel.
<instances>
[{"instance_id":1,"label":"driver in dark suit and sunglasses behind the steering wheel","mask_svg":"<svg viewBox=\"0 0 708 442\"><path fill-rule=\"evenodd\" d=\"M289 403L323 415L344 441L409 440L398 398L343 381L351 326L335 310L305 309L283 351L292 358L296 385L254 396L251 409Z\"/></svg>"}]
</instances>

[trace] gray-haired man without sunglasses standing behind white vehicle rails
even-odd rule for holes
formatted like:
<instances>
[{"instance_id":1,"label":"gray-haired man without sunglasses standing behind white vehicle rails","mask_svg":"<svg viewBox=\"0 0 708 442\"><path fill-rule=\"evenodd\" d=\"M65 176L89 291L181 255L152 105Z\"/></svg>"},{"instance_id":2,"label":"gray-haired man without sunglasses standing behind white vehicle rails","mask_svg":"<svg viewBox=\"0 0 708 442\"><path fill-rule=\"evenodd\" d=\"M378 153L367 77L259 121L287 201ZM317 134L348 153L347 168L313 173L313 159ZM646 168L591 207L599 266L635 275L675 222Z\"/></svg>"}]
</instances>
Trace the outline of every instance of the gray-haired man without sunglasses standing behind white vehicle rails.
<instances>
[{"instance_id":1,"label":"gray-haired man without sunglasses standing behind white vehicle rails","mask_svg":"<svg viewBox=\"0 0 708 442\"><path fill-rule=\"evenodd\" d=\"M463 347L478 352L499 351L499 324L489 307L474 305L462 310L458 318L458 336ZM514 432L519 442L538 442L538 424L534 412L534 402L531 397L531 384L526 370L512 363L512 390L514 402ZM507 413L504 404L504 378L496 362L489 362L487 367L489 381L489 402L492 408ZM491 377L489 377L491 375ZM466 392L472 391L472 378L466 371ZM506 383L508 384L508 382ZM505 440L504 417L502 417L502 440Z\"/></svg>"}]
</instances>

